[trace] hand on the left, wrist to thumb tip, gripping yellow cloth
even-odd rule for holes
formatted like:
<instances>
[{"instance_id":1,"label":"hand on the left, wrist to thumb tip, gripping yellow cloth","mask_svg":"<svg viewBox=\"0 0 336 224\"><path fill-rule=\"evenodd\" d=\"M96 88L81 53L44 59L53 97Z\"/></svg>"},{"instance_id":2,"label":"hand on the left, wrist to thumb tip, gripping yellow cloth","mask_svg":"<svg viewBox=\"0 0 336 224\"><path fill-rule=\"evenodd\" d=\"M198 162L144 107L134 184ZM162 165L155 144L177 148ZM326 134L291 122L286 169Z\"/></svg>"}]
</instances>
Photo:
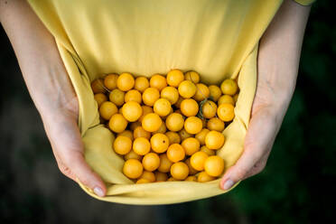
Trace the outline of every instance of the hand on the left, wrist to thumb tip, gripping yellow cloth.
<instances>
[{"instance_id":1,"label":"hand on the left, wrist to thumb tip, gripping yellow cloth","mask_svg":"<svg viewBox=\"0 0 336 224\"><path fill-rule=\"evenodd\" d=\"M44 129L61 173L75 182L78 178L98 196L103 197L105 184L97 173L92 172L84 158L84 145L77 125L78 105L78 99L74 97L53 112L41 112Z\"/></svg>"}]
</instances>

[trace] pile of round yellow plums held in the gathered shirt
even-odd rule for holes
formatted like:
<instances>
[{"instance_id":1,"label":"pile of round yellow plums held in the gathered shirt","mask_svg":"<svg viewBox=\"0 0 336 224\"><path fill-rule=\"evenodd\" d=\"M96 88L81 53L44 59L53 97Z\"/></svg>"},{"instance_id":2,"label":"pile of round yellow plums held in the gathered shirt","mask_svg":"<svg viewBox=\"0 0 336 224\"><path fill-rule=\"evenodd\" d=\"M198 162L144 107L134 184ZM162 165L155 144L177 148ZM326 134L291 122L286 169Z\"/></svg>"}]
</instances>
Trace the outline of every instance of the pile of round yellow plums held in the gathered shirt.
<instances>
[{"instance_id":1,"label":"pile of round yellow plums held in the gathered shirt","mask_svg":"<svg viewBox=\"0 0 336 224\"><path fill-rule=\"evenodd\" d=\"M123 173L136 183L210 182L225 168L216 150L235 117L238 84L200 82L196 71L170 70L151 78L128 72L91 83L100 121L116 135ZM112 150L112 149L111 149Z\"/></svg>"}]
</instances>

